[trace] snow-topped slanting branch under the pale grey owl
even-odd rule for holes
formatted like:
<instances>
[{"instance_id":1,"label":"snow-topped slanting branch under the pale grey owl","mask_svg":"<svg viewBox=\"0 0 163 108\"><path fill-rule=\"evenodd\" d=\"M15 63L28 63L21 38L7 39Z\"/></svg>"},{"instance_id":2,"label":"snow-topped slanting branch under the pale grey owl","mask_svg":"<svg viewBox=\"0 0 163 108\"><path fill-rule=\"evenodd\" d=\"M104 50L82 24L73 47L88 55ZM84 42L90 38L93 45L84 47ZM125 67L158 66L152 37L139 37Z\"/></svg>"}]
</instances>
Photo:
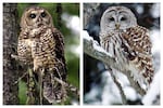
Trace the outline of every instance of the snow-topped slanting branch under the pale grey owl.
<instances>
[{"instance_id":1,"label":"snow-topped slanting branch under the pale grey owl","mask_svg":"<svg viewBox=\"0 0 163 108\"><path fill-rule=\"evenodd\" d=\"M146 91L140 87L140 85L134 81L134 79L130 77L130 70L127 68L122 69L117 64L115 64L115 58L111 56L110 53L105 52L103 48L100 46L100 44L95 41L87 31L83 32L84 35L84 52L101 62L103 62L106 66L113 67L116 70L123 72L128 78L130 85L141 95L143 96L146 94Z\"/></svg>"}]
</instances>

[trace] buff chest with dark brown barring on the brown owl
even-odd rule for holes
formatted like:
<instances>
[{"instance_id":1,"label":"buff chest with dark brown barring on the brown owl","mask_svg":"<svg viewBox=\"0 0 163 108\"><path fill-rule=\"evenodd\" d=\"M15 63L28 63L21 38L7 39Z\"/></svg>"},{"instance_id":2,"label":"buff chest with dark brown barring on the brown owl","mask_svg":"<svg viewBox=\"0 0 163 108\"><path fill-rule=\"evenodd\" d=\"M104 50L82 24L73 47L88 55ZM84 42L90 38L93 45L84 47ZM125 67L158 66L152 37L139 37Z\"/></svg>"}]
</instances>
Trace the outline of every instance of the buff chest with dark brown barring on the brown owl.
<instances>
[{"instance_id":1,"label":"buff chest with dark brown barring on the brown owl","mask_svg":"<svg viewBox=\"0 0 163 108\"><path fill-rule=\"evenodd\" d=\"M52 67L51 65L55 64L55 41L52 29L36 28L27 31L18 40L17 52L22 60L32 62L35 70L39 66Z\"/></svg>"}]
</instances>

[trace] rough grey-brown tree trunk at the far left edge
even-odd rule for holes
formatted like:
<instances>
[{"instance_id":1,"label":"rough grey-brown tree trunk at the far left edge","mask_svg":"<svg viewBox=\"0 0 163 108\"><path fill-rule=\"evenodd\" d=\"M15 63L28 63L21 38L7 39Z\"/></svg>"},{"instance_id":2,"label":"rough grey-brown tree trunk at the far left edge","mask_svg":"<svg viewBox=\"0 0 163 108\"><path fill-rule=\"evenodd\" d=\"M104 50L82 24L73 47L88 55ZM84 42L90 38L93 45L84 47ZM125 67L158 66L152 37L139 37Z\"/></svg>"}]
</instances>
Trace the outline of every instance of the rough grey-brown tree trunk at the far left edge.
<instances>
[{"instance_id":1,"label":"rough grey-brown tree trunk at the far left edge","mask_svg":"<svg viewBox=\"0 0 163 108\"><path fill-rule=\"evenodd\" d=\"M3 3L3 104L18 104L18 79L15 60L11 54L15 53L17 40L16 4Z\"/></svg>"}]
</instances>

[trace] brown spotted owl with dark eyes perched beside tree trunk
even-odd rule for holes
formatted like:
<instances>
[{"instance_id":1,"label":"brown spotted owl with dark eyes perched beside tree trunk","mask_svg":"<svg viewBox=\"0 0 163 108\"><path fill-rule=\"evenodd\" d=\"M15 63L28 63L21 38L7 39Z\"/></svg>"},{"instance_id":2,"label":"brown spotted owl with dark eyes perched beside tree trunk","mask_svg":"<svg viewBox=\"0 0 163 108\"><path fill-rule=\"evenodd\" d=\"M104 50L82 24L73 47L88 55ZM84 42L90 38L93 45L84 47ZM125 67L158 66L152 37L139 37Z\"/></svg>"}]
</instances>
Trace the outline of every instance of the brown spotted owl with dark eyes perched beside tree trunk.
<instances>
[{"instance_id":1,"label":"brown spotted owl with dark eyes perched beside tree trunk","mask_svg":"<svg viewBox=\"0 0 163 108\"><path fill-rule=\"evenodd\" d=\"M53 26L50 13L40 6L26 9L21 18L17 55L33 67L42 85L42 95L49 103L60 103L65 91L54 78L66 81L66 64L62 33ZM41 77L41 78L40 78Z\"/></svg>"}]
</instances>

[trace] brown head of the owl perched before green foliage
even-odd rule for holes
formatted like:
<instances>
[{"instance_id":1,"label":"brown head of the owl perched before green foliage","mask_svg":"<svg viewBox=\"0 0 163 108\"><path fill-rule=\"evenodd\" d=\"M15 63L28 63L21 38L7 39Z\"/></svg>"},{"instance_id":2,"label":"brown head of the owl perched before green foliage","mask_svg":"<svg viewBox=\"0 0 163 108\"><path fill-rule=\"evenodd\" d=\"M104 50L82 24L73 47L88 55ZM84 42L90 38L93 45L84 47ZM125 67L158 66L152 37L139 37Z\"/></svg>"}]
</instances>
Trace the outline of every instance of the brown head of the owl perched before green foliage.
<instances>
[{"instance_id":1,"label":"brown head of the owl perched before green foliage","mask_svg":"<svg viewBox=\"0 0 163 108\"><path fill-rule=\"evenodd\" d=\"M53 27L53 22L50 13L40 6L27 8L21 18L22 28L38 28L41 26Z\"/></svg>"}]
</instances>

